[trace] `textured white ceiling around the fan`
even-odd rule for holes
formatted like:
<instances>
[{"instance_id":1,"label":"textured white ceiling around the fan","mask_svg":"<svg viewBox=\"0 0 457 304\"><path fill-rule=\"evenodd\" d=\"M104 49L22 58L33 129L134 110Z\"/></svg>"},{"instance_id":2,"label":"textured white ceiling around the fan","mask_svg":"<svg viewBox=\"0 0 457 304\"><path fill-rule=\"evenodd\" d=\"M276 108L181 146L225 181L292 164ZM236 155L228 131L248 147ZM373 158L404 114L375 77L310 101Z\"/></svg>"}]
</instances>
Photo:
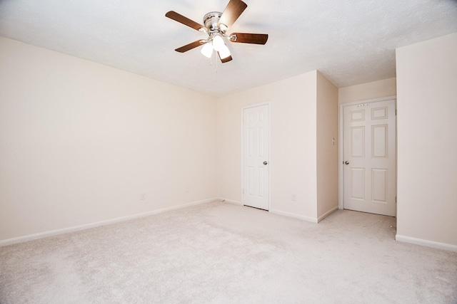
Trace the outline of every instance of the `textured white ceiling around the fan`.
<instances>
[{"instance_id":1,"label":"textured white ceiling around the fan","mask_svg":"<svg viewBox=\"0 0 457 304\"><path fill-rule=\"evenodd\" d=\"M243 0L231 32L268 33L265 46L230 43L210 65L198 23L229 0L0 0L0 36L219 96L320 70L337 87L395 76L395 48L457 31L456 0Z\"/></svg>"}]
</instances>

